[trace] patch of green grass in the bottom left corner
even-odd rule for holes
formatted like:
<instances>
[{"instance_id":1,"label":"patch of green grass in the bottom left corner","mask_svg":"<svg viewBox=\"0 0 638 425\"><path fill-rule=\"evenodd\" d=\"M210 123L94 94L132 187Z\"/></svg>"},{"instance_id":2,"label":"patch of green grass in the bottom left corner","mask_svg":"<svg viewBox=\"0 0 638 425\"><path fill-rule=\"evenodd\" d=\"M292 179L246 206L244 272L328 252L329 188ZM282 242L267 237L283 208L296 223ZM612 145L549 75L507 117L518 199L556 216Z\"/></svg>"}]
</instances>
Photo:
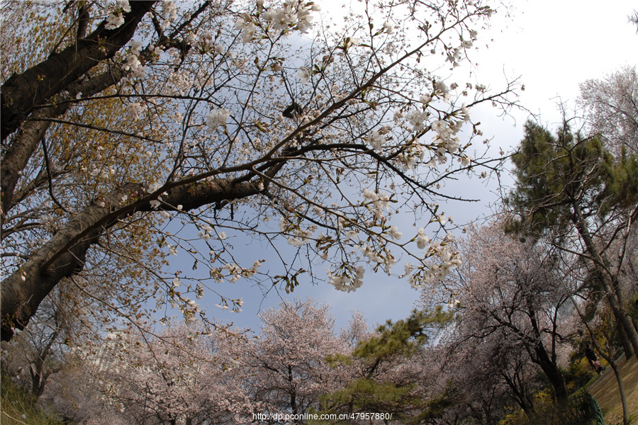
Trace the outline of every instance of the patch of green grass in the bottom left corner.
<instances>
[{"instance_id":1,"label":"patch of green grass in the bottom left corner","mask_svg":"<svg viewBox=\"0 0 638 425\"><path fill-rule=\"evenodd\" d=\"M11 382L6 375L2 375L0 382L0 423L2 425L64 424L59 419L42 412L35 397Z\"/></svg>"}]
</instances>

